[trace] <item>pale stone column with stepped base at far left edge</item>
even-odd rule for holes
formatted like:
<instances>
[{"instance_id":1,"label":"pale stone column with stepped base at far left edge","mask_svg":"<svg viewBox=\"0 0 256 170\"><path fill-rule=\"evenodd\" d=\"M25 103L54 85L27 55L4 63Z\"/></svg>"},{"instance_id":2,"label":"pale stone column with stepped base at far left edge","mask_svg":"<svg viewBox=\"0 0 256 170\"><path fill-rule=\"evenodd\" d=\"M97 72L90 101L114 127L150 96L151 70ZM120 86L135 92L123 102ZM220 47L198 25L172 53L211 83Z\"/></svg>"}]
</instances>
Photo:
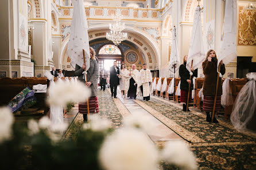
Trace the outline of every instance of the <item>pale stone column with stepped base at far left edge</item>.
<instances>
[{"instance_id":1,"label":"pale stone column with stepped base at far left edge","mask_svg":"<svg viewBox=\"0 0 256 170\"><path fill-rule=\"evenodd\" d=\"M1 1L0 77L32 77L28 53L28 2Z\"/></svg>"}]
</instances>

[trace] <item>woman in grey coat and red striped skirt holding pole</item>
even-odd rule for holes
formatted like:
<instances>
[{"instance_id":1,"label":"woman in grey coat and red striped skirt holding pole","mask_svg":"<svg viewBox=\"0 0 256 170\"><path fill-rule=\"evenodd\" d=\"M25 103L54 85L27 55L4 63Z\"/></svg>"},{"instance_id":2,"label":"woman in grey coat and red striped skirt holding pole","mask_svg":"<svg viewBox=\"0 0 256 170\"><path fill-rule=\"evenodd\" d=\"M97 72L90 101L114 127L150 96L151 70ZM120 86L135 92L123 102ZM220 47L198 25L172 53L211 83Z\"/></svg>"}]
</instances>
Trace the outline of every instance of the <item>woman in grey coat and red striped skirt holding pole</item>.
<instances>
[{"instance_id":1,"label":"woman in grey coat and red striped skirt holding pole","mask_svg":"<svg viewBox=\"0 0 256 170\"><path fill-rule=\"evenodd\" d=\"M87 70L87 83L86 86L91 89L91 97L89 98L89 110L90 113L98 113L98 97L97 97L97 88L98 88L98 77L99 77L99 65L95 60L95 51L90 47L90 68ZM79 65L76 65L75 76L78 76L78 80L85 83L83 79L83 72L86 69L86 64L83 64L81 68ZM79 113L83 114L84 122L87 122L87 102L79 103Z\"/></svg>"}]
</instances>

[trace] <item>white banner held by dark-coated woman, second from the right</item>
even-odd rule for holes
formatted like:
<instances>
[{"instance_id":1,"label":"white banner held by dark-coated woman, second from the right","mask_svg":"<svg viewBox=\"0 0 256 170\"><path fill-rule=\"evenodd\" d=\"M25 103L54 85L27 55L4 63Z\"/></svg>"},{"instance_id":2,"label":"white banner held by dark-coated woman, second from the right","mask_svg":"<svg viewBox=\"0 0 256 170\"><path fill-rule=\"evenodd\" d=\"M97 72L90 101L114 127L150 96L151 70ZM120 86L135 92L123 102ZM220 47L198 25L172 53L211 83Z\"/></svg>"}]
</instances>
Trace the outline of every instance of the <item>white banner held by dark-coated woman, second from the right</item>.
<instances>
[{"instance_id":1,"label":"white banner held by dark-coated woman, second from the right","mask_svg":"<svg viewBox=\"0 0 256 170\"><path fill-rule=\"evenodd\" d=\"M193 61L193 69L199 68L205 59L205 49L203 42L203 34L201 27L201 13L200 6L196 7L193 21L193 29L191 34L191 40L188 51L187 69L191 73L191 64Z\"/></svg>"}]
</instances>

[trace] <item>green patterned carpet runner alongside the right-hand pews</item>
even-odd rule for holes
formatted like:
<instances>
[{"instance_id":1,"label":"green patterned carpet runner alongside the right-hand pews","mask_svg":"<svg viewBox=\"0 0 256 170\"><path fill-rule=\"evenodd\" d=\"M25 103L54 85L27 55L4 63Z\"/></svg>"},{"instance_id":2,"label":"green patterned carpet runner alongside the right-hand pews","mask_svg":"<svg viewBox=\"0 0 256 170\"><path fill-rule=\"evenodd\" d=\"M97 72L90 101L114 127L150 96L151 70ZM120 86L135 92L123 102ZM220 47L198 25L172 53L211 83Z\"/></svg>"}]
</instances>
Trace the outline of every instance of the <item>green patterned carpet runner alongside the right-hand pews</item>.
<instances>
[{"instance_id":1,"label":"green patterned carpet runner alongside the right-hand pews","mask_svg":"<svg viewBox=\"0 0 256 170\"><path fill-rule=\"evenodd\" d=\"M172 120L177 126L184 128L190 133L189 135L198 137L201 141L205 141L206 143L256 141L253 137L239 133L235 129L231 129L230 126L209 123L201 116L197 116L191 112L183 112L180 108L155 98L151 98L150 101L142 100L135 102L141 105L142 108L145 108L146 105L156 110L166 118L169 118L169 120ZM173 129L173 131L176 132L175 129ZM179 134L179 132L176 133ZM184 139L187 140L186 137L184 137Z\"/></svg>"}]
</instances>

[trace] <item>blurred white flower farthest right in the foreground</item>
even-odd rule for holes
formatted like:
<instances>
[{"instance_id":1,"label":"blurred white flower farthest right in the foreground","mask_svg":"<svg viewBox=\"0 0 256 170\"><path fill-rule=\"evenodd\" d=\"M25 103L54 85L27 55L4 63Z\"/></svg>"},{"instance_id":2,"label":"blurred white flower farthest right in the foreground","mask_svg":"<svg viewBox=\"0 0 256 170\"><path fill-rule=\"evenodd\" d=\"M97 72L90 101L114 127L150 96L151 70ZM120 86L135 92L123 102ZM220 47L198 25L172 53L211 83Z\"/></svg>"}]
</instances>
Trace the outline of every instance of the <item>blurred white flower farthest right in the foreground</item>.
<instances>
[{"instance_id":1,"label":"blurred white flower farthest right in the foreground","mask_svg":"<svg viewBox=\"0 0 256 170\"><path fill-rule=\"evenodd\" d=\"M162 159L184 169L197 169L196 156L183 141L169 141L161 153Z\"/></svg>"}]
</instances>

